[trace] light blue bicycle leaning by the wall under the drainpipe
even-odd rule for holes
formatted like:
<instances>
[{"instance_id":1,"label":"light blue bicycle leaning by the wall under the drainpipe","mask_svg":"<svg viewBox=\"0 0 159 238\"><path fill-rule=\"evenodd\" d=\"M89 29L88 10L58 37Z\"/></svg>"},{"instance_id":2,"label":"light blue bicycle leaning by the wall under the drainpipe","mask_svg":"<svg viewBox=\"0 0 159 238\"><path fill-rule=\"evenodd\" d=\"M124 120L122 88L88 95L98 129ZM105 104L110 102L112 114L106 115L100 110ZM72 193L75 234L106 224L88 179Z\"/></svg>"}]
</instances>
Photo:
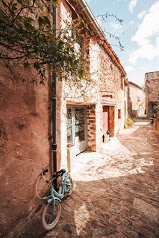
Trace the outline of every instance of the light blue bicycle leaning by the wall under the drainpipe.
<instances>
[{"instance_id":1,"label":"light blue bicycle leaning by the wall under the drainpipe","mask_svg":"<svg viewBox=\"0 0 159 238\"><path fill-rule=\"evenodd\" d=\"M47 180L45 177L45 173L47 172L48 169L45 169L40 173L40 177L37 181L37 184L39 180L43 178L46 184L50 187L49 195L45 197L40 197L37 194L37 186L36 194L40 199L47 200L47 204L42 211L42 225L47 231L49 231L57 225L61 216L61 201L64 197L71 195L73 183L70 174L64 169L61 169L58 172L54 172L50 181ZM61 177L61 181L59 185L59 190L56 191L53 186L53 181L59 177Z\"/></svg>"}]
</instances>

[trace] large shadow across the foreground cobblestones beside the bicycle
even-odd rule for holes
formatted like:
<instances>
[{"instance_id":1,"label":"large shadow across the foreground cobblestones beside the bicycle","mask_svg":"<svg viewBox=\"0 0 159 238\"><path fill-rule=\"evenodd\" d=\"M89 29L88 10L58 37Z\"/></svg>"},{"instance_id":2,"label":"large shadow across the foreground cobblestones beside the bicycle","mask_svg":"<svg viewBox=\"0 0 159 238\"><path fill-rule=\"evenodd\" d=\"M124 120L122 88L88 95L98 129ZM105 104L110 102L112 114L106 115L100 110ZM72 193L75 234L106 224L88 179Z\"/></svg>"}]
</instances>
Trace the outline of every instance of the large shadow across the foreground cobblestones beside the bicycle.
<instances>
[{"instance_id":1,"label":"large shadow across the foreground cobblestones beside the bicycle","mask_svg":"<svg viewBox=\"0 0 159 238\"><path fill-rule=\"evenodd\" d=\"M18 237L159 237L154 166L148 173L145 167L142 174L75 182L74 193L64 200L54 230L46 233L42 229L39 212Z\"/></svg>"}]
</instances>

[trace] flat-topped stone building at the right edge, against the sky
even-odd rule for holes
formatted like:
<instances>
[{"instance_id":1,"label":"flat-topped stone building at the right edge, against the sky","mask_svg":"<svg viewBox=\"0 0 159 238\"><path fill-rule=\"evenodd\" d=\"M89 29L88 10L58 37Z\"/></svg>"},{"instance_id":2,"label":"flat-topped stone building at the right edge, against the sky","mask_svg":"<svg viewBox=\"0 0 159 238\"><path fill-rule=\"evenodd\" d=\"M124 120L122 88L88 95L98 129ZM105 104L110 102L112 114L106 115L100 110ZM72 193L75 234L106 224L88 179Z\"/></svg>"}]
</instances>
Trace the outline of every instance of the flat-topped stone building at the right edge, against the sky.
<instances>
[{"instance_id":1,"label":"flat-topped stone building at the right edge, against the sky","mask_svg":"<svg viewBox=\"0 0 159 238\"><path fill-rule=\"evenodd\" d=\"M145 73L146 114L153 116L153 106L159 106L159 71Z\"/></svg>"}]
</instances>

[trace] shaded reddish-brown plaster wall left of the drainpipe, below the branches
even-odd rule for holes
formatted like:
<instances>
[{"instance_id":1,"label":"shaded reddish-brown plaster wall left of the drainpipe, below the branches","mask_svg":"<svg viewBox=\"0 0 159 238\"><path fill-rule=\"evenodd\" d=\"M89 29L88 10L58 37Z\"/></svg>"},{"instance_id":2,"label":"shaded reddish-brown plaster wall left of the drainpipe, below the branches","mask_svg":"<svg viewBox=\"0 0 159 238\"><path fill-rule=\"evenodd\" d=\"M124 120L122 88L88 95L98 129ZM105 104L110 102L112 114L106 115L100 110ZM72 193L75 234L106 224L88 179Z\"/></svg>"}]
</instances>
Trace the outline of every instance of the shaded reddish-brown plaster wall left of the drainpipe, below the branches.
<instances>
[{"instance_id":1,"label":"shaded reddish-brown plaster wall left of the drainpipe, below the branches","mask_svg":"<svg viewBox=\"0 0 159 238\"><path fill-rule=\"evenodd\" d=\"M20 226L39 204L35 183L42 167L49 163L48 86L29 83L32 77L31 71L16 69L11 74L0 65L2 237Z\"/></svg>"}]
</instances>

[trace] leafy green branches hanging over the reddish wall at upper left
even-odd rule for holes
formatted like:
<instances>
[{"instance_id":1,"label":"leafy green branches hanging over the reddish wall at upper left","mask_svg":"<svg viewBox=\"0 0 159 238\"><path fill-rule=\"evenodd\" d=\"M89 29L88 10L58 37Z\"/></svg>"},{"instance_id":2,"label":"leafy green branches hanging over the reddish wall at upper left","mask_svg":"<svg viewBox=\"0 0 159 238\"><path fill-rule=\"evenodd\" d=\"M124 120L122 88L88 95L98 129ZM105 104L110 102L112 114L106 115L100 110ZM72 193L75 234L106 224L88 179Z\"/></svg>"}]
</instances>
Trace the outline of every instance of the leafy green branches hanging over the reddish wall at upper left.
<instances>
[{"instance_id":1,"label":"leafy green branches hanging over the reddish wall at upper left","mask_svg":"<svg viewBox=\"0 0 159 238\"><path fill-rule=\"evenodd\" d=\"M0 59L33 65L45 78L46 65L63 78L84 76L82 54L76 49L80 37L72 37L74 26L58 31L50 13L57 1L0 0Z\"/></svg>"}]
</instances>

